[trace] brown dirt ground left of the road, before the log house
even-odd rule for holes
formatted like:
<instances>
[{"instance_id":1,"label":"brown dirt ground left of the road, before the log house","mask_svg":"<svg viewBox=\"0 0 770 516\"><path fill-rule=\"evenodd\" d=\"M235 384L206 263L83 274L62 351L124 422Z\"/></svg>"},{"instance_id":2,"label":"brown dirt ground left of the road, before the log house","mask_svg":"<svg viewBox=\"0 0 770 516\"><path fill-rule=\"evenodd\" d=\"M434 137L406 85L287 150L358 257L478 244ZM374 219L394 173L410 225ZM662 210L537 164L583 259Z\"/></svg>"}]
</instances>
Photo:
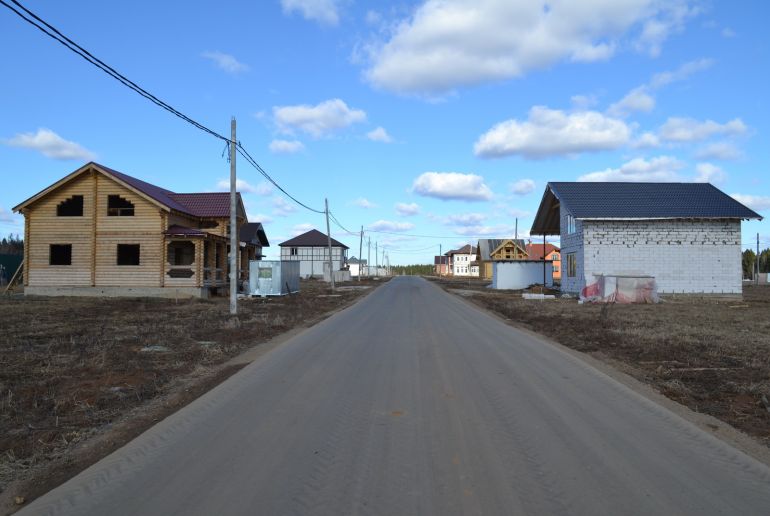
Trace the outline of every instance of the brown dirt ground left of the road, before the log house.
<instances>
[{"instance_id":1,"label":"brown dirt ground left of the road, before the log house","mask_svg":"<svg viewBox=\"0 0 770 516\"><path fill-rule=\"evenodd\" d=\"M241 301L237 321L227 298L0 297L0 498L54 487L245 365L232 357L381 283L330 295L303 281L298 294Z\"/></svg>"}]
</instances>

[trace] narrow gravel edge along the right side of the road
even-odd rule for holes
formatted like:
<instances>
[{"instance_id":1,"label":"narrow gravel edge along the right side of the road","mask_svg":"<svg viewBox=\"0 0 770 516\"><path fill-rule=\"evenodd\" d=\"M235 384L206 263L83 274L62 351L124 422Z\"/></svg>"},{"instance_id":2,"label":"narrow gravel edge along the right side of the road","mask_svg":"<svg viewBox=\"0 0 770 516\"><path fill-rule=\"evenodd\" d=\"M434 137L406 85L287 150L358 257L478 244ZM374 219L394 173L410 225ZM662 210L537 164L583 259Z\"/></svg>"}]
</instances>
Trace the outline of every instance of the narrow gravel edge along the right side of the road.
<instances>
[{"instance_id":1,"label":"narrow gravel edge along the right side of the road","mask_svg":"<svg viewBox=\"0 0 770 516\"><path fill-rule=\"evenodd\" d=\"M463 303L473 308L476 308L478 310L481 310L482 312L492 316L498 321L508 326L511 326L513 328L516 328L516 330L521 331L522 333L526 333L527 335L535 338L536 340L546 345L554 346L564 351L565 353L577 358L578 360L583 361L584 363L593 367L600 373L612 378L613 380L616 380L617 382L620 382L621 384L625 385L626 387L633 390L637 394L643 396L644 398L648 399L649 401L652 401L653 403L657 403L658 405L663 406L664 408L670 410L671 412L678 415L682 419L685 419L686 421L694 424L695 426L705 431L706 433L716 437L717 439L725 442L726 444L729 444L730 446L733 446L734 448L742 451L746 455L758 460L759 462L762 462L766 466L770 466L770 448L767 448L763 444L757 442L750 435L741 432L737 428L733 427L732 425L720 419L717 419L708 414L695 412L689 407L686 407L664 396L649 384L646 384L640 380L637 380L636 378L634 378L633 376L625 372L623 369L629 367L626 364L623 364L622 362L618 362L615 360L611 360L609 358L605 358L604 360L602 360L597 357L591 356L587 353L583 353L582 351L574 350L568 346L565 346L564 344L561 344L556 340L552 340L551 338L541 333L537 333L528 328L525 328L522 325L517 324L516 321L502 317L500 314L487 309L481 304L474 303L471 299L469 299L466 296L462 296L456 292L452 292L448 289L444 289L433 282L429 282L429 283L435 288L443 290L447 294L451 294L455 298L461 300Z\"/></svg>"}]
</instances>

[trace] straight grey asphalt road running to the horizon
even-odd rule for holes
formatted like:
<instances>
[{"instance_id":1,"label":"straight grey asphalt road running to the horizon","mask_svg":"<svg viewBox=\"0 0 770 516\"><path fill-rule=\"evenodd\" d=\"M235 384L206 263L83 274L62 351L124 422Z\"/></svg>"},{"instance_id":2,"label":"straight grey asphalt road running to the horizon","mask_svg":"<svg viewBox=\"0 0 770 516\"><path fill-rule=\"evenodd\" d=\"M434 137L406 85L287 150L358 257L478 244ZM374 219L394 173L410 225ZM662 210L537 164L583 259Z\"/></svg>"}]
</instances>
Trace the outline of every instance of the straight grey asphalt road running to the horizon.
<instances>
[{"instance_id":1,"label":"straight grey asphalt road running to the horizon","mask_svg":"<svg viewBox=\"0 0 770 516\"><path fill-rule=\"evenodd\" d=\"M766 515L770 469L401 277L20 514Z\"/></svg>"}]
</instances>

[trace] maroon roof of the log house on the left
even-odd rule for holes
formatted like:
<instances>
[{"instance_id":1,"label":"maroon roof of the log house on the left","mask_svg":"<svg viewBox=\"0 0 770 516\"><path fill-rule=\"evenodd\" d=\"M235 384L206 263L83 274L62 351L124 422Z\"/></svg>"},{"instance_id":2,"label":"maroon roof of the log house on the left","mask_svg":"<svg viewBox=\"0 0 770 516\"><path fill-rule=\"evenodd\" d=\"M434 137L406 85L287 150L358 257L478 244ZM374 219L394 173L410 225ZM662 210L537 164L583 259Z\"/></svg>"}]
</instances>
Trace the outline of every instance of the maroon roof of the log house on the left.
<instances>
[{"instance_id":1,"label":"maroon roof of the log house on the left","mask_svg":"<svg viewBox=\"0 0 770 516\"><path fill-rule=\"evenodd\" d=\"M135 191L142 197L153 201L155 204L166 207L169 210L178 211L193 217L229 217L230 216L230 193L229 192L211 192L211 193L175 193L159 186L153 185L141 179L137 179L123 172L105 167L93 161L86 163L73 173L67 175L48 188L33 195L23 203L16 206L13 210L19 211L25 206L32 204L38 199L44 197L59 186L67 183L87 172L96 169L102 174L111 177L118 183L123 184L130 190ZM237 213L245 217L246 210L243 207L241 194L237 194L238 207Z\"/></svg>"}]
</instances>

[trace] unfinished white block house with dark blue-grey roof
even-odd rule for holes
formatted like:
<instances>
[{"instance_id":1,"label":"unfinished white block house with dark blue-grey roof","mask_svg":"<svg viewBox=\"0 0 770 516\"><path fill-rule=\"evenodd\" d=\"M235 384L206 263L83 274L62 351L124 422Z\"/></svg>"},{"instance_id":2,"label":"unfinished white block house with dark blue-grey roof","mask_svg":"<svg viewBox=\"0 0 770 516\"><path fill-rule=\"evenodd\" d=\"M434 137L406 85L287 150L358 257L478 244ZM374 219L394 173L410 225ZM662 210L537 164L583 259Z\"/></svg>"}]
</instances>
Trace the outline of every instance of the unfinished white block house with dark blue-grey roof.
<instances>
[{"instance_id":1,"label":"unfinished white block house with dark blue-grey roof","mask_svg":"<svg viewBox=\"0 0 770 516\"><path fill-rule=\"evenodd\" d=\"M531 233L560 236L565 292L603 274L654 276L662 293L740 294L749 219L762 217L708 183L554 182Z\"/></svg>"}]
</instances>

